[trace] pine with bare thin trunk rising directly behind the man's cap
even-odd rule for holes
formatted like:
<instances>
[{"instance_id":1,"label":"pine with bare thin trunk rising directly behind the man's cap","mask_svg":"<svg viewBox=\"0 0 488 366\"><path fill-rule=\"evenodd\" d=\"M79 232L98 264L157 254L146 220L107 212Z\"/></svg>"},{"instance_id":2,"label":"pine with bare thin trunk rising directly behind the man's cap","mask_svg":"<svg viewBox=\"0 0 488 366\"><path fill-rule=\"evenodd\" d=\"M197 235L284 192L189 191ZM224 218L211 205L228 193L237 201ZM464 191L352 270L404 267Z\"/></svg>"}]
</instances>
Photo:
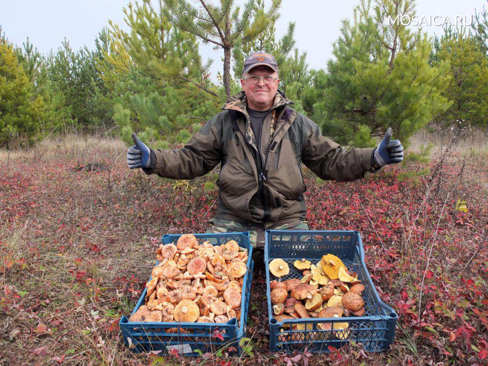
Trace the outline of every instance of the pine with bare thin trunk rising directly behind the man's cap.
<instances>
[{"instance_id":1,"label":"pine with bare thin trunk rising directly behind the man's cap","mask_svg":"<svg viewBox=\"0 0 488 366\"><path fill-rule=\"evenodd\" d=\"M234 7L234 0L220 0L214 6L207 0L200 0L196 8L188 0L164 0L168 19L178 28L200 38L205 44L212 43L224 50L223 83L227 98L231 95L230 67L232 49L236 43L252 41L265 31L270 22L279 17L281 0L272 0L268 12L255 12L255 0L248 0L240 8Z\"/></svg>"}]
</instances>

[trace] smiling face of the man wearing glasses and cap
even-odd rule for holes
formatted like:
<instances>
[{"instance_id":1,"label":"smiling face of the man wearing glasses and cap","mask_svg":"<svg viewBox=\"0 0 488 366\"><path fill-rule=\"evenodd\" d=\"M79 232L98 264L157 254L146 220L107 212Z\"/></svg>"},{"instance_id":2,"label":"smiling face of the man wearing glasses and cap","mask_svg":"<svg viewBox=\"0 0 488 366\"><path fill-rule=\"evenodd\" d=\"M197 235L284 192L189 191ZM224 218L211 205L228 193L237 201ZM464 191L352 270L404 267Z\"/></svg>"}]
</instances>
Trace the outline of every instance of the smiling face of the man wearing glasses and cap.
<instances>
[{"instance_id":1,"label":"smiling face of the man wearing glasses and cap","mask_svg":"<svg viewBox=\"0 0 488 366\"><path fill-rule=\"evenodd\" d=\"M267 66L259 65L252 68L244 77L257 76L273 76L278 77L278 73ZM250 80L240 79L242 90L246 93L248 105L252 109L266 110L272 107L273 99L278 90L278 83L280 79L273 80L272 84L266 84L264 79L260 79L257 84L252 84Z\"/></svg>"}]
</instances>

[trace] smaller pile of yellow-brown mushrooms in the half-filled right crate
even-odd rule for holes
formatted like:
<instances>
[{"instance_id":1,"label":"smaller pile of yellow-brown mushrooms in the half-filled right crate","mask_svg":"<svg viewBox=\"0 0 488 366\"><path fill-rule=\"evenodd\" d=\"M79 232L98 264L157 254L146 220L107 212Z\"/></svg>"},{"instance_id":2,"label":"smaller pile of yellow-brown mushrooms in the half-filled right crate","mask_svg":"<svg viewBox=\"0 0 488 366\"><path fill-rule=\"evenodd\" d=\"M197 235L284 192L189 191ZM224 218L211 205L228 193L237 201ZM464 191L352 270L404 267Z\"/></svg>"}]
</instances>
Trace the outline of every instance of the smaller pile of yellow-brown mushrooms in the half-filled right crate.
<instances>
[{"instance_id":1,"label":"smaller pile of yellow-brown mushrooms in the half-filled right crate","mask_svg":"<svg viewBox=\"0 0 488 366\"><path fill-rule=\"evenodd\" d=\"M269 262L269 271L278 280L270 282L273 316L278 321L286 319L338 318L364 315L364 291L357 279L337 256L326 254L312 264L306 259L296 260L293 266L302 272L301 279L281 281L290 272L283 259ZM333 329L332 329L333 326ZM312 324L296 324L293 330L312 329ZM318 329L338 330L333 332L339 339L347 339L349 323L319 323ZM304 336L304 333L295 333ZM282 337L286 339L283 334Z\"/></svg>"}]
</instances>

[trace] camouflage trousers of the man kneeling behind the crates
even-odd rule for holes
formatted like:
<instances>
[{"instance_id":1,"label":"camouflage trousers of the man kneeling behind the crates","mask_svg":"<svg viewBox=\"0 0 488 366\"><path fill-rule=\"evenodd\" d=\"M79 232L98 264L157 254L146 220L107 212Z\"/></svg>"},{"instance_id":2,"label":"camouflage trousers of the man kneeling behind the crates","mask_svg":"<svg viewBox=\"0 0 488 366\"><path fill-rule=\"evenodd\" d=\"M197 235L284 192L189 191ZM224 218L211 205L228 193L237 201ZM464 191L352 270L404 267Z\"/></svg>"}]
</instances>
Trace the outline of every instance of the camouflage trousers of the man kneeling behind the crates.
<instances>
[{"instance_id":1,"label":"camouflage trousers of the man kneeling behind the crates","mask_svg":"<svg viewBox=\"0 0 488 366\"><path fill-rule=\"evenodd\" d=\"M225 233L231 231L249 231L249 239L254 248L264 248L264 231L271 230L309 230L307 221L293 221L286 224L271 224L264 226L263 224L240 222L233 220L218 220L211 219L208 221L212 224L207 229L207 233Z\"/></svg>"}]
</instances>

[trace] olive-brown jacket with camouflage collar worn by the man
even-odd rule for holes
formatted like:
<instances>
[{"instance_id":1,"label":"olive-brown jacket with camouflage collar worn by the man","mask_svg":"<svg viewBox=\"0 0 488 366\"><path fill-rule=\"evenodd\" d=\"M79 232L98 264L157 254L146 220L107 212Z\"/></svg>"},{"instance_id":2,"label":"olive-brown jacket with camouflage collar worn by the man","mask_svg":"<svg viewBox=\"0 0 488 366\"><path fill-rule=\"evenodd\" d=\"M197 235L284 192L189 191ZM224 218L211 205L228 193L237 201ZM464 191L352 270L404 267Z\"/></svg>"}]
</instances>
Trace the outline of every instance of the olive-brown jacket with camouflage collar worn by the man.
<instances>
[{"instance_id":1,"label":"olive-brown jacket with camouflage collar worn by the man","mask_svg":"<svg viewBox=\"0 0 488 366\"><path fill-rule=\"evenodd\" d=\"M377 170L374 148L346 150L322 136L311 119L288 107L293 102L281 92L264 118L258 146L246 104L244 92L229 98L184 147L153 150L153 165L144 171L193 179L221 163L216 219L286 223L307 214L300 163L328 180L350 181Z\"/></svg>"}]
</instances>

